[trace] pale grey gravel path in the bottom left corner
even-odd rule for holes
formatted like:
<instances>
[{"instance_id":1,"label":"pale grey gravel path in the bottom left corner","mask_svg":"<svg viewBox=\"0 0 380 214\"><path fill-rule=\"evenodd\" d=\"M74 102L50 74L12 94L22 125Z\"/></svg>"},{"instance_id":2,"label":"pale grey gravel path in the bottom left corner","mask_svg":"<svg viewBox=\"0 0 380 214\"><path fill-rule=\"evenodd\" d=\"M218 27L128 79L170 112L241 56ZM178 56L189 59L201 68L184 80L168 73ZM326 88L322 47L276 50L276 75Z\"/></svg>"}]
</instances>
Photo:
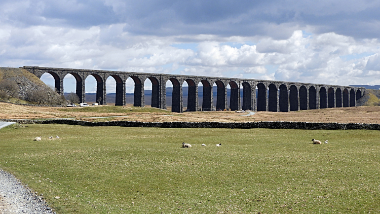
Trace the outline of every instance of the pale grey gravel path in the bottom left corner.
<instances>
[{"instance_id":1,"label":"pale grey gravel path in the bottom left corner","mask_svg":"<svg viewBox=\"0 0 380 214\"><path fill-rule=\"evenodd\" d=\"M55 213L12 174L0 169L0 214L11 213Z\"/></svg>"}]
</instances>

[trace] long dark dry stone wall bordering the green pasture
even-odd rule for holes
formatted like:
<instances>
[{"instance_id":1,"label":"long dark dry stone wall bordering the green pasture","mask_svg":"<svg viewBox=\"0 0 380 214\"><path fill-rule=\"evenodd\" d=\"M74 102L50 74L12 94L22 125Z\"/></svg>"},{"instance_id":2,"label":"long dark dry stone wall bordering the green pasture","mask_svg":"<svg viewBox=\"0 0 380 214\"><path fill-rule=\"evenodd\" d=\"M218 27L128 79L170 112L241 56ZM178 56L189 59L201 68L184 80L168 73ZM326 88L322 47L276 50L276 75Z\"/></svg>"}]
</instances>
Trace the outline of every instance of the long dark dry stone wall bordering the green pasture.
<instances>
[{"instance_id":1,"label":"long dark dry stone wall bordering the green pasture","mask_svg":"<svg viewBox=\"0 0 380 214\"><path fill-rule=\"evenodd\" d=\"M269 129L308 129L308 130L380 130L380 124L365 123L307 123L307 122L248 122L248 123L222 123L222 122L159 122L146 123L135 121L108 121L87 122L81 120L7 120L21 124L66 124L81 126L123 126L123 127L155 127L155 128L269 128Z\"/></svg>"}]
</instances>

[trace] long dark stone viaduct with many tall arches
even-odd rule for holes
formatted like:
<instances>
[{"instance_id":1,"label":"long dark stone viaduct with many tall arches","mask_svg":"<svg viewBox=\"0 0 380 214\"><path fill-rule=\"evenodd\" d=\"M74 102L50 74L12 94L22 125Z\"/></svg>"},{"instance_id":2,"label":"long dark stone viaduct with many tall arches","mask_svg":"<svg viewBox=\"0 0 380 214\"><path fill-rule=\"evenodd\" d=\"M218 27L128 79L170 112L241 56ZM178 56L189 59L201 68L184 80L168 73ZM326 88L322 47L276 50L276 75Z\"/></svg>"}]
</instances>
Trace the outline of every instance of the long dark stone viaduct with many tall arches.
<instances>
[{"instance_id":1,"label":"long dark stone viaduct with many tall arches","mask_svg":"<svg viewBox=\"0 0 380 214\"><path fill-rule=\"evenodd\" d=\"M134 81L134 106L144 106L144 82L152 83L151 106L166 109L166 82L173 84L172 112L183 112L182 84L188 85L188 111L209 111L212 109L231 109L289 112L298 110L313 110L325 108L341 108L355 106L356 100L362 97L364 88L323 85L310 83L295 83L281 81L266 81L253 79L199 77L168 74L147 74L131 72L112 72L107 70L87 70L51 67L22 67L36 77L45 73L54 77L57 92L63 95L63 79L71 74L77 80L76 93L81 102L86 101L85 80L92 75L97 81L96 100L106 104L105 81L113 77L116 81L116 105L125 105L125 83L128 78ZM198 85L203 85L202 106L198 102ZM216 106L213 106L212 86L217 86ZM227 86L230 85L230 106L227 106ZM243 88L241 100L240 88Z\"/></svg>"}]
</instances>

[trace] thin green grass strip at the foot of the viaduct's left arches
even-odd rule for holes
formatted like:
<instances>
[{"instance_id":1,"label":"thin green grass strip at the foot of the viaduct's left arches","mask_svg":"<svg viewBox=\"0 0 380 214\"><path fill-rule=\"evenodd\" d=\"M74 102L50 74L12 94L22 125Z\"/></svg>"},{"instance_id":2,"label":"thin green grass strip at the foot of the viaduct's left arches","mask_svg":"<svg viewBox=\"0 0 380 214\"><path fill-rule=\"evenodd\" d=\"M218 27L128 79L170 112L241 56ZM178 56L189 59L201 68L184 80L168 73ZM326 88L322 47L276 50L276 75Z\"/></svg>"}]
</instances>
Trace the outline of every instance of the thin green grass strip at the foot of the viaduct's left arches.
<instances>
[{"instance_id":1,"label":"thin green grass strip at the foot of the viaduct's left arches","mask_svg":"<svg viewBox=\"0 0 380 214\"><path fill-rule=\"evenodd\" d=\"M62 112L96 112L96 113L168 113L168 111L157 108L146 107L125 107L112 105L98 105L90 107L63 108L58 109Z\"/></svg>"}]
</instances>

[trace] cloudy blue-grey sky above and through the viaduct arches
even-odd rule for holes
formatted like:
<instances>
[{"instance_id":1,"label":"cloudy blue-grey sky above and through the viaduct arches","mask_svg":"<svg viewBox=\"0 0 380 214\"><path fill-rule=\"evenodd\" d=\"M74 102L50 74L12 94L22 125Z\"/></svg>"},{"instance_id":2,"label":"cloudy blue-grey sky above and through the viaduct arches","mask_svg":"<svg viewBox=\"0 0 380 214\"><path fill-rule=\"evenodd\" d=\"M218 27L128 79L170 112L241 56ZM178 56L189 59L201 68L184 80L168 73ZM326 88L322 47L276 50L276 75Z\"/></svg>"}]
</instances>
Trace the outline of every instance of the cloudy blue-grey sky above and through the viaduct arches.
<instances>
[{"instance_id":1,"label":"cloudy blue-grey sky above and through the viaduct arches","mask_svg":"<svg viewBox=\"0 0 380 214\"><path fill-rule=\"evenodd\" d=\"M378 11L378 0L2 0L0 66L380 85ZM64 91L74 84L66 76Z\"/></svg>"}]
</instances>

